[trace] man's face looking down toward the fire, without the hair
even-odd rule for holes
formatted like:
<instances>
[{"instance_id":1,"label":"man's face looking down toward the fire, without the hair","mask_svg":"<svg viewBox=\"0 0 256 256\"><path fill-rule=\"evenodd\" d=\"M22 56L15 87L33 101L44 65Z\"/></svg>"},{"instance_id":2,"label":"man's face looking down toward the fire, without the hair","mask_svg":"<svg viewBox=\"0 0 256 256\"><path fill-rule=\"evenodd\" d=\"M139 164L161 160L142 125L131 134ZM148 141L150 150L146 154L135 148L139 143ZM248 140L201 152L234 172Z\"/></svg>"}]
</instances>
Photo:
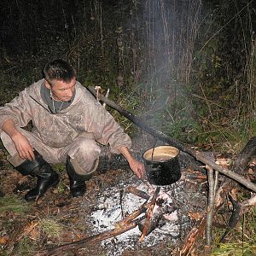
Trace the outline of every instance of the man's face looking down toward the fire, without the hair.
<instances>
[{"instance_id":1,"label":"man's face looking down toward the fire, without the hair","mask_svg":"<svg viewBox=\"0 0 256 256\"><path fill-rule=\"evenodd\" d=\"M75 92L75 78L73 78L69 83L55 80L55 84L53 86L51 86L47 80L44 81L45 86L51 90L55 101L68 102L71 100Z\"/></svg>"}]
</instances>

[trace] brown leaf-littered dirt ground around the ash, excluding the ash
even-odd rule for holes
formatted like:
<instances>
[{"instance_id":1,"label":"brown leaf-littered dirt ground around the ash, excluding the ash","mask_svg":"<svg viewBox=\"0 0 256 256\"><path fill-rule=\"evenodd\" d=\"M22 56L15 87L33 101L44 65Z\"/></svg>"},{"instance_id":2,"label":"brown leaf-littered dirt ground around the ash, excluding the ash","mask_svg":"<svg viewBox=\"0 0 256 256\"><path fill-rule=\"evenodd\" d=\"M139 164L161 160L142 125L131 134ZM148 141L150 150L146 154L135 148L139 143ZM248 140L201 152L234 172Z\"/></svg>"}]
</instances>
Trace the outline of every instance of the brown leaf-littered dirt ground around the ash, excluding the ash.
<instances>
[{"instance_id":1,"label":"brown leaf-littered dirt ground around the ash, excluding the ash","mask_svg":"<svg viewBox=\"0 0 256 256\"><path fill-rule=\"evenodd\" d=\"M25 214L9 209L0 212L1 255L35 255L46 248L57 247L96 235L89 220L91 212L97 207L97 198L102 195L107 196L107 190L116 189L117 185L122 187L122 184L127 180L130 180L130 183L133 183L133 180L136 181L136 177L132 176L129 168L109 170L105 173L97 172L87 182L85 195L82 198L72 198L69 195L65 167L54 166L61 177L61 183L58 187L49 189L46 195L37 202L26 202L23 200L23 196L29 188L32 188L36 182L35 178L22 177L20 173L15 172L6 160L6 151L1 149L0 152L0 208L5 199L14 196L22 206L28 207ZM180 193L178 195L180 198L177 198L176 201L180 230L175 239L171 235L165 236L164 240L153 246L144 242L136 247L125 248L119 254L109 251L109 243L107 247L104 247L102 243L89 243L79 250L72 249L61 254L95 256L175 255L177 248L183 246L189 230L201 217L207 203L205 177L194 179L193 177L199 172L185 169L184 166L182 166L182 170L183 176L175 185ZM136 185L136 182L134 183ZM154 237L154 233L152 234ZM114 238L110 240L111 244L114 241Z\"/></svg>"}]
</instances>

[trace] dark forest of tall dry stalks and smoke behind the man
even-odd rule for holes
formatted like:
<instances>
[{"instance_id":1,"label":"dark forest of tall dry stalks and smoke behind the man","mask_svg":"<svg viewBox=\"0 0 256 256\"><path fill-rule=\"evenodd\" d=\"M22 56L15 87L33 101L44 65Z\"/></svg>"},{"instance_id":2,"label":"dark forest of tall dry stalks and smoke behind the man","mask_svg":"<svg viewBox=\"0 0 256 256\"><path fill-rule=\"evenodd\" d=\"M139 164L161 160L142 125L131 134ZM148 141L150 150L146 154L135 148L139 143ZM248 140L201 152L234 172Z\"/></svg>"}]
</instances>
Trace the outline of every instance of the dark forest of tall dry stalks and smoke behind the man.
<instances>
[{"instance_id":1,"label":"dark forest of tall dry stalks and smoke behind the man","mask_svg":"<svg viewBox=\"0 0 256 256\"><path fill-rule=\"evenodd\" d=\"M234 153L255 133L255 1L2 0L0 12L1 105L63 58L182 142Z\"/></svg>"}]
</instances>

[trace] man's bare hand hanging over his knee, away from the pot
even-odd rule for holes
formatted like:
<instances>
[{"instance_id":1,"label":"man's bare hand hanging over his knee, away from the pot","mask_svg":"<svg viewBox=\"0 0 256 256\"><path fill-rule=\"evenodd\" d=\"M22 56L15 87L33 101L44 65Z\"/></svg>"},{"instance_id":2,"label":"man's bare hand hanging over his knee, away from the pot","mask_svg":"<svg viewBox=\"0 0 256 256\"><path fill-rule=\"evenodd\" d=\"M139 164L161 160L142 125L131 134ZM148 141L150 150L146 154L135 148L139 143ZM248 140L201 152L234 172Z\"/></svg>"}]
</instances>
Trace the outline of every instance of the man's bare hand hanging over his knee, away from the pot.
<instances>
[{"instance_id":1,"label":"man's bare hand hanging over his knee, away from the pot","mask_svg":"<svg viewBox=\"0 0 256 256\"><path fill-rule=\"evenodd\" d=\"M12 140L15 143L17 152L22 159L27 159L27 160L35 159L33 148L29 143L28 139L24 135L22 135L21 133L17 133L15 134L15 136L12 137Z\"/></svg>"}]
</instances>

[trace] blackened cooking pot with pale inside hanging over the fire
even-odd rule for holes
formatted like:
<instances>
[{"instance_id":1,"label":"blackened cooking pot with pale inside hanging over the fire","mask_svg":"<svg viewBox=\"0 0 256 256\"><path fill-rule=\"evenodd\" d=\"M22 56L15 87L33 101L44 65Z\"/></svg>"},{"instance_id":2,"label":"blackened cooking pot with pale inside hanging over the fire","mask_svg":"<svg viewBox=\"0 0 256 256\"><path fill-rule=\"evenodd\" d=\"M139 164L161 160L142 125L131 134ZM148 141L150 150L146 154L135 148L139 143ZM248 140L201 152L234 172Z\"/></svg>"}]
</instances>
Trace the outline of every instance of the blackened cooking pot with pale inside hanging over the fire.
<instances>
[{"instance_id":1,"label":"blackened cooking pot with pale inside hanging over the fire","mask_svg":"<svg viewBox=\"0 0 256 256\"><path fill-rule=\"evenodd\" d=\"M181 177L178 154L179 150L172 146L148 149L143 154L148 182L160 186L176 183Z\"/></svg>"}]
</instances>

